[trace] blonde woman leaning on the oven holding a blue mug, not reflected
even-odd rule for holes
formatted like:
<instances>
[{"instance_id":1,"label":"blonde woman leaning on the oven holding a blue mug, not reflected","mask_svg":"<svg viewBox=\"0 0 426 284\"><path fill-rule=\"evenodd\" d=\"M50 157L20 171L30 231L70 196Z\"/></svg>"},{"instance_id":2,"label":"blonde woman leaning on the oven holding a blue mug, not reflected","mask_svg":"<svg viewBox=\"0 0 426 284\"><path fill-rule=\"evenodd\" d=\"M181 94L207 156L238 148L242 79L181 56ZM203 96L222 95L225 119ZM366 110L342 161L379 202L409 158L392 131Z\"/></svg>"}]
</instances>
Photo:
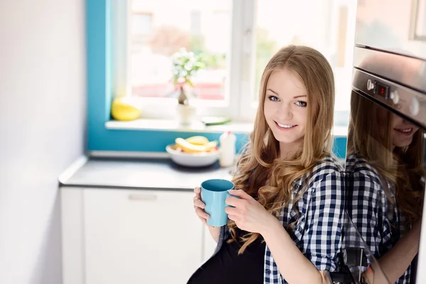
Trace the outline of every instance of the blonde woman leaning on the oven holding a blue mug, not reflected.
<instances>
[{"instance_id":1,"label":"blonde woman leaning on the oven holding a blue mug, not reflected","mask_svg":"<svg viewBox=\"0 0 426 284\"><path fill-rule=\"evenodd\" d=\"M339 267L344 178L332 156L334 77L317 50L282 48L263 72L249 146L209 227L217 250L188 283L324 283ZM195 188L194 207L208 214Z\"/></svg>"}]
</instances>

